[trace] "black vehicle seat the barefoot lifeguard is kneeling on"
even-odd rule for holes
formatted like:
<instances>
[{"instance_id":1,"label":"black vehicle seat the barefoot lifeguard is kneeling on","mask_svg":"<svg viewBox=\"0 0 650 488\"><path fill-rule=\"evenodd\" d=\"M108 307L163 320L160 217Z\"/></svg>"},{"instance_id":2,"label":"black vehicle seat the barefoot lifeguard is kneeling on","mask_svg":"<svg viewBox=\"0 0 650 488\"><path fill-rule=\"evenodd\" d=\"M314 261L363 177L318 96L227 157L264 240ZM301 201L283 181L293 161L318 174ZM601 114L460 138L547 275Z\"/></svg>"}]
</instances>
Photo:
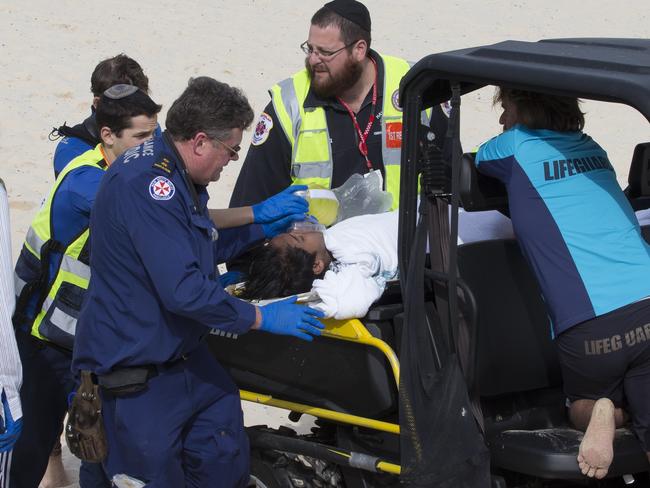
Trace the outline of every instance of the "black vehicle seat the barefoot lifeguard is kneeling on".
<instances>
[{"instance_id":1,"label":"black vehicle seat the barefoot lifeguard is kneeling on","mask_svg":"<svg viewBox=\"0 0 650 488\"><path fill-rule=\"evenodd\" d=\"M582 432L570 428L561 372L537 281L515 240L459 246L460 277L478 308L477 384L494 468L581 479ZM617 431L610 477L643 472L636 437Z\"/></svg>"}]
</instances>

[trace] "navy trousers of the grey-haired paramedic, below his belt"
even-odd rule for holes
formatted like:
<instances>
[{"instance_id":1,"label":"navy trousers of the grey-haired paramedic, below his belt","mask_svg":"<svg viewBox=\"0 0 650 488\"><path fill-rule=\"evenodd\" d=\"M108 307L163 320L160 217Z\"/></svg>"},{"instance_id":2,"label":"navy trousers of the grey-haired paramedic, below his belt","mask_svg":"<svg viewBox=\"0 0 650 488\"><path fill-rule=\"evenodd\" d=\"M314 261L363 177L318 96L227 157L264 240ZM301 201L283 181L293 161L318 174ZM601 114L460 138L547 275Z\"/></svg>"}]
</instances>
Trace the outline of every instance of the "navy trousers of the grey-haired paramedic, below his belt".
<instances>
[{"instance_id":1,"label":"navy trousers of the grey-haired paramedic, below his belt","mask_svg":"<svg viewBox=\"0 0 650 488\"><path fill-rule=\"evenodd\" d=\"M111 477L126 474L147 488L247 486L239 391L207 347L159 368L141 392L102 397Z\"/></svg>"}]
</instances>

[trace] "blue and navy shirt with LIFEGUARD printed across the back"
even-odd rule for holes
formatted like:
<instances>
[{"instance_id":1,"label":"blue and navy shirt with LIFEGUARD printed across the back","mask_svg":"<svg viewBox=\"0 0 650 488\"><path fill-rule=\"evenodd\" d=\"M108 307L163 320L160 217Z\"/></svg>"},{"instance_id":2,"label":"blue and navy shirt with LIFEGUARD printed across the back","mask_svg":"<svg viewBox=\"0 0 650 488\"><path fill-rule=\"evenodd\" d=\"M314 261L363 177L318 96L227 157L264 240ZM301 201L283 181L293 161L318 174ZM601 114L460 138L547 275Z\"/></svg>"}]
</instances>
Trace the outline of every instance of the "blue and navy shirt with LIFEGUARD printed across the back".
<instances>
[{"instance_id":1,"label":"blue and navy shirt with LIFEGUARD printed across the back","mask_svg":"<svg viewBox=\"0 0 650 488\"><path fill-rule=\"evenodd\" d=\"M483 144L476 165L507 188L556 336L650 296L650 247L591 137L516 125Z\"/></svg>"}]
</instances>

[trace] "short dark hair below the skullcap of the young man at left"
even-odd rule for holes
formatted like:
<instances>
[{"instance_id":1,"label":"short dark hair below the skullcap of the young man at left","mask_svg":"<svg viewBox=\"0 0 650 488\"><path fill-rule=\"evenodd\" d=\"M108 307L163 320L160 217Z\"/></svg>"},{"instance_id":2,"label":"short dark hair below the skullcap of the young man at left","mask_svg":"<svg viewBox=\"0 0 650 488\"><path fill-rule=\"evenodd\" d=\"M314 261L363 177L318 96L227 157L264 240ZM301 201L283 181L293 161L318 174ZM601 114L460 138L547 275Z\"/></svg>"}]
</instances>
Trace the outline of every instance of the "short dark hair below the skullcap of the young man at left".
<instances>
[{"instance_id":1,"label":"short dark hair below the skullcap of the young man at left","mask_svg":"<svg viewBox=\"0 0 650 488\"><path fill-rule=\"evenodd\" d=\"M160 112L161 108L162 105L156 104L142 90L118 100L102 95L95 111L97 128L101 130L102 127L108 127L119 137L124 129L131 127L133 117L138 115L153 117Z\"/></svg>"}]
</instances>

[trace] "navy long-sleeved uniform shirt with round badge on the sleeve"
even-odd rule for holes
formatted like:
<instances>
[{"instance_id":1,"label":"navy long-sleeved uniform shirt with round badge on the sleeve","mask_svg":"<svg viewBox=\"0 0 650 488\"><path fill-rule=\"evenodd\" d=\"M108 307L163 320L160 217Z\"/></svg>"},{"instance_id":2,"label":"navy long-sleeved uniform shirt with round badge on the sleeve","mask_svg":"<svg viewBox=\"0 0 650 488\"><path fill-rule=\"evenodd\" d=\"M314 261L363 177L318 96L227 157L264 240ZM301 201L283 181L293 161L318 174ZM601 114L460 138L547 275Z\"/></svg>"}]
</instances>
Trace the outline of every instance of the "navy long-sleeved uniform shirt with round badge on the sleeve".
<instances>
[{"instance_id":1,"label":"navy long-sleeved uniform shirt with round badge on the sleeve","mask_svg":"<svg viewBox=\"0 0 650 488\"><path fill-rule=\"evenodd\" d=\"M164 137L108 169L90 219L92 277L73 370L161 364L191 353L212 328L243 333L253 305L228 295L217 264L264 238L259 225L220 232L198 209Z\"/></svg>"}]
</instances>

